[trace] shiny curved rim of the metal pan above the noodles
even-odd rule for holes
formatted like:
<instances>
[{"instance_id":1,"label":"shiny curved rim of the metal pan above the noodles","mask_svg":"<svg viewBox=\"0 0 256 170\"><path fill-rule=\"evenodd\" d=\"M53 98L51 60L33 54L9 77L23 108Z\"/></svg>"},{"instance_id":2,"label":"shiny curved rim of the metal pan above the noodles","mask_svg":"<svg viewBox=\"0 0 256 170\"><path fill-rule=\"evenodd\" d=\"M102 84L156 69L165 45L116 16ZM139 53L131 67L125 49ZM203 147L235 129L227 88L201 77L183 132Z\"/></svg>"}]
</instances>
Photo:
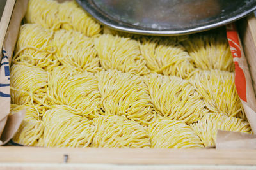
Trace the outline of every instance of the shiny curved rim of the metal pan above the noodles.
<instances>
[{"instance_id":1,"label":"shiny curved rim of the metal pan above the noodles","mask_svg":"<svg viewBox=\"0 0 256 170\"><path fill-rule=\"evenodd\" d=\"M252 11L256 10L256 1L254 6L250 6L250 8L245 8L241 11L234 11L234 13L230 13L227 18L220 18L220 20L205 22L204 25L199 25L198 27L184 27L181 29L163 29L157 30L148 27L136 27L136 25L126 24L125 22L117 21L109 15L106 15L104 11L100 10L93 0L76 0L78 4L80 4L84 10L86 10L93 18L99 21L101 24L111 27L117 31L124 31L133 34L144 34L144 35L158 35L158 36L173 36L173 35L184 35L184 34L192 34L196 32L206 31L209 29L213 29L216 27L220 27L222 25L229 24L240 18L245 17Z\"/></svg>"}]
</instances>

